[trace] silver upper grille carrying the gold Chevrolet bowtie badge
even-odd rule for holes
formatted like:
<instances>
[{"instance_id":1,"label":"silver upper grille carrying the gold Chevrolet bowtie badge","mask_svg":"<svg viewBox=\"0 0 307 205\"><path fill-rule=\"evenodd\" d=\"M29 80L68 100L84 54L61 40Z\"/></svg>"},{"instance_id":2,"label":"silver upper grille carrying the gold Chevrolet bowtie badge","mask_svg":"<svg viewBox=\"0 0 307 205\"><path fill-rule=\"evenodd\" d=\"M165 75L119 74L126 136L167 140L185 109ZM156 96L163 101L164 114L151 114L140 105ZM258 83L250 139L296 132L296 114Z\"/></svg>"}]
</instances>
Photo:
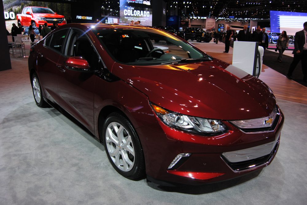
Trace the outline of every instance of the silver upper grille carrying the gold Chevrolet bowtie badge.
<instances>
[{"instance_id":1,"label":"silver upper grille carrying the gold Chevrolet bowtie badge","mask_svg":"<svg viewBox=\"0 0 307 205\"><path fill-rule=\"evenodd\" d=\"M279 109L275 107L271 114L267 117L250 120L231 120L230 122L241 129L270 128L274 123L277 115L280 115L280 112Z\"/></svg>"}]
</instances>

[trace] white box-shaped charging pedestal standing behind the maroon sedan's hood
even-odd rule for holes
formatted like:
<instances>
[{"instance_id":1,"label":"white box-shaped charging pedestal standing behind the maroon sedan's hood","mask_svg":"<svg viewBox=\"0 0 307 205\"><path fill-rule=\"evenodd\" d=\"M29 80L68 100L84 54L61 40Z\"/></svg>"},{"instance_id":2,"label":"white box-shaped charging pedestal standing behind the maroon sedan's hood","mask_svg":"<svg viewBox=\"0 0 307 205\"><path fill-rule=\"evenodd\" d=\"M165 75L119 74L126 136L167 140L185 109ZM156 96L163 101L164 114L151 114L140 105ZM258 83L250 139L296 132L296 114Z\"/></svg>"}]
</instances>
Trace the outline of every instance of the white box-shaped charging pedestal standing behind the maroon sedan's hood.
<instances>
[{"instance_id":1,"label":"white box-shaped charging pedestal standing behind the maroon sedan's hood","mask_svg":"<svg viewBox=\"0 0 307 205\"><path fill-rule=\"evenodd\" d=\"M235 41L232 65L248 74L259 77L262 68L263 47L258 42Z\"/></svg>"}]
</instances>

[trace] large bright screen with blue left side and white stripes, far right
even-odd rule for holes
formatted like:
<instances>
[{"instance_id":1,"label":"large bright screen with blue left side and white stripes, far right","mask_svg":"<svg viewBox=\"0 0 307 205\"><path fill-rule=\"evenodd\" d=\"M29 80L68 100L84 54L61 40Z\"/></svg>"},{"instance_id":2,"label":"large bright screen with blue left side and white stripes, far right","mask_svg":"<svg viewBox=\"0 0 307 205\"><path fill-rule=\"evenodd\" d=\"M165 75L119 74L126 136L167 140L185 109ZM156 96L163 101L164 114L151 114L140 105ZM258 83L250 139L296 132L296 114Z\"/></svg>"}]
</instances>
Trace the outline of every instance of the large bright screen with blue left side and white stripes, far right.
<instances>
[{"instance_id":1,"label":"large bright screen with blue left side and white stripes, far right","mask_svg":"<svg viewBox=\"0 0 307 205\"><path fill-rule=\"evenodd\" d=\"M303 29L307 21L307 13L270 11L271 32L281 33L286 31L288 35L295 35Z\"/></svg>"}]
</instances>

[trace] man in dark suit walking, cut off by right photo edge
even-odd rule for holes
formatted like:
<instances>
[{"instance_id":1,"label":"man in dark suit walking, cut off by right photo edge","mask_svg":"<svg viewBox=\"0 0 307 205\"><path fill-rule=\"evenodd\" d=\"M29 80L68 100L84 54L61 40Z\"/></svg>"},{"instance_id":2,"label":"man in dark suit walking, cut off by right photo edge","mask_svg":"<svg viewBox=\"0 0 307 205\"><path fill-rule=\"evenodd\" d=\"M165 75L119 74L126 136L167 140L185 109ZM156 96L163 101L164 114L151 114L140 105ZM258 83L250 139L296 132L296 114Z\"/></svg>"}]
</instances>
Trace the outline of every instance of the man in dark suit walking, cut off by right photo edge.
<instances>
[{"instance_id":1,"label":"man in dark suit walking, cut off by right photo edge","mask_svg":"<svg viewBox=\"0 0 307 205\"><path fill-rule=\"evenodd\" d=\"M302 61L302 70L304 74L303 82L307 78L307 21L303 24L304 29L295 33L293 61L290 65L287 78L292 79L292 73L300 60Z\"/></svg>"}]
</instances>

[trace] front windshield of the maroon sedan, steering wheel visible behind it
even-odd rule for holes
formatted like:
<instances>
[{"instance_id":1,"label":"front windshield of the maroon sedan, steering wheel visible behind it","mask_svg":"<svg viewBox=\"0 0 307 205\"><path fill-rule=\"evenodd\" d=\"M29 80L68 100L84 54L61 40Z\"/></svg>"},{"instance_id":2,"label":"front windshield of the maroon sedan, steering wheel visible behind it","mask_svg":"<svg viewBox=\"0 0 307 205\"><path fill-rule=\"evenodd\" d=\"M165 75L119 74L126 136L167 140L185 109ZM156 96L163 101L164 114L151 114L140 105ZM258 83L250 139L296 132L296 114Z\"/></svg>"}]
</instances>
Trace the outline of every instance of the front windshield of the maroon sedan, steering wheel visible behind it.
<instances>
[{"instance_id":1,"label":"front windshield of the maroon sedan, steering wheel visible behind it","mask_svg":"<svg viewBox=\"0 0 307 205\"><path fill-rule=\"evenodd\" d=\"M161 30L117 28L93 32L111 57L124 64L146 66L212 60L191 44Z\"/></svg>"}]
</instances>

